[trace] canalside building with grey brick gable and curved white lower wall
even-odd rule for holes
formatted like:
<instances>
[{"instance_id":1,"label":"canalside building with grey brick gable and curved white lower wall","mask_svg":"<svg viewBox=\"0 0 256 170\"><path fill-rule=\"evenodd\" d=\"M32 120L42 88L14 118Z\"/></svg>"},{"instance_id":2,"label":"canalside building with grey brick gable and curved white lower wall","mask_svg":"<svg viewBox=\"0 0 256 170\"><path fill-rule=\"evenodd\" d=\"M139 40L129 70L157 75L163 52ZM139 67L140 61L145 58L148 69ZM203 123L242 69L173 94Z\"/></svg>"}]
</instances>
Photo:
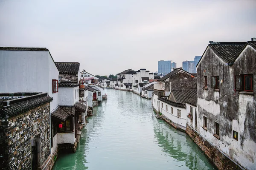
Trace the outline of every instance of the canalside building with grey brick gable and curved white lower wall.
<instances>
[{"instance_id":1,"label":"canalside building with grey brick gable and curved white lower wall","mask_svg":"<svg viewBox=\"0 0 256 170\"><path fill-rule=\"evenodd\" d=\"M196 77L181 68L154 84L153 108L172 126L186 130L186 101L196 98Z\"/></svg>"}]
</instances>

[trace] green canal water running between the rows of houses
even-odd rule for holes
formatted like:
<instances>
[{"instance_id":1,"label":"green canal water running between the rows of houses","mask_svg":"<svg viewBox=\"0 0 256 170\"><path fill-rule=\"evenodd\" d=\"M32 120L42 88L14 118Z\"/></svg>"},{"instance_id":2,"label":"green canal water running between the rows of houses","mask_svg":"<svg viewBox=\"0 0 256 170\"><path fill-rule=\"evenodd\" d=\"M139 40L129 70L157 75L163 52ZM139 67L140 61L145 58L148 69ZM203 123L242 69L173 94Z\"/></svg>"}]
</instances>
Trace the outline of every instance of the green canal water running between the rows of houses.
<instances>
[{"instance_id":1,"label":"green canal water running between the rows of houses","mask_svg":"<svg viewBox=\"0 0 256 170\"><path fill-rule=\"evenodd\" d=\"M214 170L186 135L155 118L151 100L106 89L76 153L61 154L54 170Z\"/></svg>"}]
</instances>

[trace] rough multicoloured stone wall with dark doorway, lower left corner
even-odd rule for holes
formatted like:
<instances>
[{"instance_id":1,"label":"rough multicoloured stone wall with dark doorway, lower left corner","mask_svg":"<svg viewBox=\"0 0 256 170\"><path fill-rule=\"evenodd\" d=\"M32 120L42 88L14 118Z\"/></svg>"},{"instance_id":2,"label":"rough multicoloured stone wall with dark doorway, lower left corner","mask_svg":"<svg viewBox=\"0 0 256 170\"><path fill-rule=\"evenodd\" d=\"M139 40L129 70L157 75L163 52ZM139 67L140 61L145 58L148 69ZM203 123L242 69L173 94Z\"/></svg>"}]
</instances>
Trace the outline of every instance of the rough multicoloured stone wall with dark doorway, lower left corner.
<instances>
[{"instance_id":1,"label":"rough multicoloured stone wall with dark doorway, lower left corner","mask_svg":"<svg viewBox=\"0 0 256 170\"><path fill-rule=\"evenodd\" d=\"M0 167L3 169L30 169L31 168L31 139L39 135L41 142L41 165L50 155L50 105L45 104L26 113L1 119L0 141L3 146L0 155ZM6 122L7 121L7 122ZM37 129L34 125L37 123Z\"/></svg>"}]
</instances>

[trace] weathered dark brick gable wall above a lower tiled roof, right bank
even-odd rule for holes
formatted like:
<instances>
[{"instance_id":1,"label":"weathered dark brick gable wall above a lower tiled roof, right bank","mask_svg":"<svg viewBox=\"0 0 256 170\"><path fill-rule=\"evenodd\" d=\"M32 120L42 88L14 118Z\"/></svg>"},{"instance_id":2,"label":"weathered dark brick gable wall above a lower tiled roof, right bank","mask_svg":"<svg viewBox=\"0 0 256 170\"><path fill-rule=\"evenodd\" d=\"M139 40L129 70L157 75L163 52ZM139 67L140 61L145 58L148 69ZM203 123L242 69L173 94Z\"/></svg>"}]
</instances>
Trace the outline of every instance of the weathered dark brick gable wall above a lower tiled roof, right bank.
<instances>
[{"instance_id":1,"label":"weathered dark brick gable wall above a lower tiled roof, right bank","mask_svg":"<svg viewBox=\"0 0 256 170\"><path fill-rule=\"evenodd\" d=\"M197 78L186 71L180 70L175 75L166 79L164 83L165 91L196 89Z\"/></svg>"}]
</instances>

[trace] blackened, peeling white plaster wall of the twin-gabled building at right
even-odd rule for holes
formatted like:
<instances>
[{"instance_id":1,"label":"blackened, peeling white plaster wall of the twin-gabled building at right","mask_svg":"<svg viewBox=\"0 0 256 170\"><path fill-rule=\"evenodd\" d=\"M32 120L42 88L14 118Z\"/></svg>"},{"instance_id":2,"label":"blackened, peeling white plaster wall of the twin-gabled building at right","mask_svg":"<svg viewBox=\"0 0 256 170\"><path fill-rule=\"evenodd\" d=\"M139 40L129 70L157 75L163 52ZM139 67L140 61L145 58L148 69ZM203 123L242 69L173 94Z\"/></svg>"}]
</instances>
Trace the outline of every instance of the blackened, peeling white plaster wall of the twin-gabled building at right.
<instances>
[{"instance_id":1,"label":"blackened, peeling white plaster wall of the twin-gabled building at right","mask_svg":"<svg viewBox=\"0 0 256 170\"><path fill-rule=\"evenodd\" d=\"M230 156L246 169L256 169L256 51L246 48L236 62L229 66L215 56L209 48L197 67L198 122L197 131L212 145ZM234 76L253 74L253 95L235 91ZM207 76L207 89L203 89ZM219 76L223 83L219 91L210 87L210 77ZM203 116L207 117L207 130L202 128ZM215 122L219 123L220 139L215 133ZM233 139L233 130L239 139Z\"/></svg>"}]
</instances>

